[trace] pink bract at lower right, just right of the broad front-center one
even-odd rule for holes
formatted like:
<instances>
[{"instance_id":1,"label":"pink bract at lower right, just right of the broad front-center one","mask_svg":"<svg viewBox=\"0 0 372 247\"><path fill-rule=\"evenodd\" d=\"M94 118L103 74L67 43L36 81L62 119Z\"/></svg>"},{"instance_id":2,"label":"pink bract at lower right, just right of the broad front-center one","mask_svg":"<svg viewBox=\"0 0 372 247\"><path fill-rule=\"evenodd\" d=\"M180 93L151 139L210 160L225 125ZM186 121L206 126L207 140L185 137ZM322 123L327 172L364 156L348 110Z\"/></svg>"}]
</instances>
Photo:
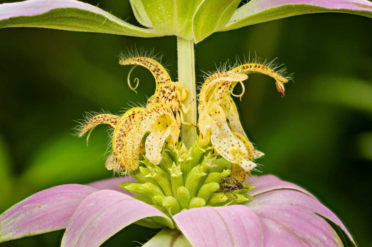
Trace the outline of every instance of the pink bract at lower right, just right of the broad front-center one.
<instances>
[{"instance_id":1,"label":"pink bract at lower right, just right of the broad front-center one","mask_svg":"<svg viewBox=\"0 0 372 247\"><path fill-rule=\"evenodd\" d=\"M260 219L264 246L343 246L336 231L322 217L288 204L251 207Z\"/></svg>"}]
</instances>

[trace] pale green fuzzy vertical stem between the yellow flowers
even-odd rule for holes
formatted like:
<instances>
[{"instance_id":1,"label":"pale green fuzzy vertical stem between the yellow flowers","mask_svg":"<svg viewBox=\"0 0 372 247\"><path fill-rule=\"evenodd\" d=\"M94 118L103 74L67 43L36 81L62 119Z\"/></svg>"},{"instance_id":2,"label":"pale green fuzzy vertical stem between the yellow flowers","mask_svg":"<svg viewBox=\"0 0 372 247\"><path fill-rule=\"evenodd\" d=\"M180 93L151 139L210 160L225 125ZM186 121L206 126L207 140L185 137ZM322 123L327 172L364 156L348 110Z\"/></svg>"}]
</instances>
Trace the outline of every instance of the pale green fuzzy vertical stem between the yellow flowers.
<instances>
[{"instance_id":1,"label":"pale green fuzzy vertical stem between the yellow flowers","mask_svg":"<svg viewBox=\"0 0 372 247\"><path fill-rule=\"evenodd\" d=\"M186 107L189 102L189 111L183 114L183 121L193 125L181 124L181 140L189 149L196 141L196 83L195 83L195 58L194 58L194 43L191 40L177 37L177 53L178 53L178 81L182 89L189 91L189 96L182 102Z\"/></svg>"}]
</instances>

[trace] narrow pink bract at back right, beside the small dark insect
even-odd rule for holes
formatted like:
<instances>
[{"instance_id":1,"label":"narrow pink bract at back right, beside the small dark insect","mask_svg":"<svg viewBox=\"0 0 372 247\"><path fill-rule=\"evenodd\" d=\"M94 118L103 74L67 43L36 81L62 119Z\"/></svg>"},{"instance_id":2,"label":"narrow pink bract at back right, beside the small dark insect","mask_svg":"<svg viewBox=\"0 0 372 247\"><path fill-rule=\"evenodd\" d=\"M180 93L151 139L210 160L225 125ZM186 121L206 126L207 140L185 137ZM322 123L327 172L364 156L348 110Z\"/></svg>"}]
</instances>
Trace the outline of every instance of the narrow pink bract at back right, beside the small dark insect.
<instances>
[{"instance_id":1,"label":"narrow pink bract at back right, beside the small dark insect","mask_svg":"<svg viewBox=\"0 0 372 247\"><path fill-rule=\"evenodd\" d=\"M248 194L255 196L263 192L277 189L292 189L304 192L305 194L314 197L310 192L291 182L280 180L275 175L252 176L246 180L247 184L254 185L254 188ZM315 197L314 197L315 198Z\"/></svg>"}]
</instances>

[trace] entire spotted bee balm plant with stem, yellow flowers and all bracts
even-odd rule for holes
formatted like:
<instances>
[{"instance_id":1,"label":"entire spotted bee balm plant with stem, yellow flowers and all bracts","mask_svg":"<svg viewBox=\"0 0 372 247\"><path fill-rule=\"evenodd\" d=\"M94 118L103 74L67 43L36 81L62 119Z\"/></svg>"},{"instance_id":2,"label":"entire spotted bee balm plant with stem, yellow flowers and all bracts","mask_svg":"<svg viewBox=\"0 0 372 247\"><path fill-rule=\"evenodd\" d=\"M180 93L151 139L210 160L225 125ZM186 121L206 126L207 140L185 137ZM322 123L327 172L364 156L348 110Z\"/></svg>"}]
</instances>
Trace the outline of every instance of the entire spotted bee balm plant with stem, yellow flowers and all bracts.
<instances>
[{"instance_id":1,"label":"entire spotted bee balm plant with stem, yellow flowers and all bracts","mask_svg":"<svg viewBox=\"0 0 372 247\"><path fill-rule=\"evenodd\" d=\"M290 76L273 63L257 60L211 73L199 93L197 121L194 44L214 32L298 14L344 12L372 17L372 3L130 3L142 27L77 0L0 4L0 28L48 27L137 37L175 35L178 55L178 82L152 58L122 57L122 65L150 70L156 82L154 95L144 107L129 109L121 116L98 114L81 128L79 135L89 132L88 138L98 124L113 129L112 155L106 167L126 176L88 185L60 185L31 195L0 215L0 243L66 228L61 246L94 247L127 225L138 224L162 228L145 247L343 246L342 237L355 245L336 215L310 192L273 175L251 175L263 153L248 140L231 95L243 95L243 81L249 73L263 73L275 79L283 97L283 85ZM243 93L234 95L238 82ZM341 238L336 228L341 230Z\"/></svg>"}]
</instances>

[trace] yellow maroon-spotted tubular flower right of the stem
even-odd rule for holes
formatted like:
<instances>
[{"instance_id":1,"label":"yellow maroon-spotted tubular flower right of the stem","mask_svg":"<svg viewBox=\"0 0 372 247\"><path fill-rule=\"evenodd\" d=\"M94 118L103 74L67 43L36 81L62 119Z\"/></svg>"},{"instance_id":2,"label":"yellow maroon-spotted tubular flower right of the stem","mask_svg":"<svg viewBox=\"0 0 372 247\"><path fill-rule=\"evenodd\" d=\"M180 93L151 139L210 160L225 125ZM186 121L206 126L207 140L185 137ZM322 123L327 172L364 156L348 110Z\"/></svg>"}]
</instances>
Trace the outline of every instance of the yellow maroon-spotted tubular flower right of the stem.
<instances>
[{"instance_id":1,"label":"yellow maroon-spotted tubular flower right of the stem","mask_svg":"<svg viewBox=\"0 0 372 247\"><path fill-rule=\"evenodd\" d=\"M218 154L234 164L232 177L239 181L247 178L250 170L256 167L253 159L261 157L263 153L254 149L241 126L236 105L231 98L232 90L237 82L248 78L246 74L263 73L275 78L276 88L283 97L283 83L288 82L288 78L280 74L285 70L275 72L271 65L247 63L228 72L215 73L206 79L200 91L199 144L206 145L211 140Z\"/></svg>"}]
</instances>

